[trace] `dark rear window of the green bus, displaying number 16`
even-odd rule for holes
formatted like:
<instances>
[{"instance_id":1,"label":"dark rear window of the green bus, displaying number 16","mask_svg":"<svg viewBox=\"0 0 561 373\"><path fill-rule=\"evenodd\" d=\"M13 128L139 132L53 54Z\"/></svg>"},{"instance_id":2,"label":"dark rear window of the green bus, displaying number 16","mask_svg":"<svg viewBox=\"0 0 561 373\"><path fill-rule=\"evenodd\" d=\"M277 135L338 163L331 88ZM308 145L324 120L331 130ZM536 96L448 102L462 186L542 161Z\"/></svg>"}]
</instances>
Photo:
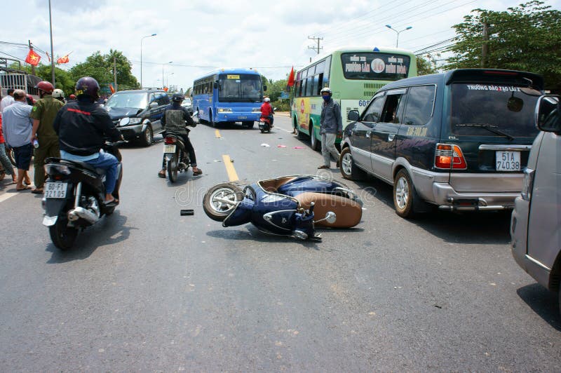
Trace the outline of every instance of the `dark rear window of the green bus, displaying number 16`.
<instances>
[{"instance_id":1,"label":"dark rear window of the green bus, displaying number 16","mask_svg":"<svg viewBox=\"0 0 561 373\"><path fill-rule=\"evenodd\" d=\"M408 55L361 52L342 53L345 79L398 81L407 78L410 68Z\"/></svg>"}]
</instances>

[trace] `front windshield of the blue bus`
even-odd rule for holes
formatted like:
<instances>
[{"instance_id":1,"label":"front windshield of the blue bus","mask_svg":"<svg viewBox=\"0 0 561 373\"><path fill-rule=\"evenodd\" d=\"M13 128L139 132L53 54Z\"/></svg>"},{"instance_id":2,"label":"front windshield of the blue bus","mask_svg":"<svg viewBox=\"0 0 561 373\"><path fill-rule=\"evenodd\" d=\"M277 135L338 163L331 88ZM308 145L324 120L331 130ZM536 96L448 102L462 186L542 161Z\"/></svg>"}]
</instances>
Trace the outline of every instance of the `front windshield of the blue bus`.
<instances>
[{"instance_id":1,"label":"front windshield of the blue bus","mask_svg":"<svg viewBox=\"0 0 561 373\"><path fill-rule=\"evenodd\" d=\"M260 102L261 77L252 74L221 74L218 77L220 102Z\"/></svg>"}]
</instances>

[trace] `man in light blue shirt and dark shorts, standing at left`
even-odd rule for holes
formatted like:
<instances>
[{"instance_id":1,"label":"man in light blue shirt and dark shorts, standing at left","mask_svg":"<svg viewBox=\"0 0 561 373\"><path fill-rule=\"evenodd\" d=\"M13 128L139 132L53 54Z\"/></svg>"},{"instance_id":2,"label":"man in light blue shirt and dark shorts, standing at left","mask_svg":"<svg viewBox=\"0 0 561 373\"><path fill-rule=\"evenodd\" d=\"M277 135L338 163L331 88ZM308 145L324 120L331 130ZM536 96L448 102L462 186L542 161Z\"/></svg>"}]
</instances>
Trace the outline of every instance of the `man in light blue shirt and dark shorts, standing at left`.
<instances>
[{"instance_id":1,"label":"man in light blue shirt and dark shorts, standing at left","mask_svg":"<svg viewBox=\"0 0 561 373\"><path fill-rule=\"evenodd\" d=\"M27 176L27 170L29 170L33 153L31 144L32 121L29 118L32 107L26 102L24 90L15 90L13 97L15 101L4 110L2 121L4 137L14 151L15 165L18 167L18 181L15 190L24 191L29 189L29 186L24 186L23 183L31 184L31 180Z\"/></svg>"}]
</instances>

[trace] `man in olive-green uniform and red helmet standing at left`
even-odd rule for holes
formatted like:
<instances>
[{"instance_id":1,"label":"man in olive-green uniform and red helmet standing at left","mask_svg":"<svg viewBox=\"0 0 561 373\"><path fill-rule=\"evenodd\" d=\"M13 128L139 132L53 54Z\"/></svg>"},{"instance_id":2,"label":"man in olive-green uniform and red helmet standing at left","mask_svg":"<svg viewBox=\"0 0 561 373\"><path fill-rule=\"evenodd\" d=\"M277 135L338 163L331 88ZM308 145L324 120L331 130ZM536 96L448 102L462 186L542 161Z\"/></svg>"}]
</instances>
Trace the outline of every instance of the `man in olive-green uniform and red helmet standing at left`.
<instances>
[{"instance_id":1,"label":"man in olive-green uniform and red helmet standing at left","mask_svg":"<svg viewBox=\"0 0 561 373\"><path fill-rule=\"evenodd\" d=\"M59 100L53 98L53 90L55 89L48 81L40 81L35 88L39 88L39 96L41 97L33 105L31 118L33 119L32 142L37 140L39 147L34 150L33 165L35 168L34 184L35 189L31 192L35 194L43 194L43 183L45 182L45 169L43 165L45 159L49 157L60 158L60 148L58 145L58 136L53 129L53 121L59 109L64 105Z\"/></svg>"}]
</instances>

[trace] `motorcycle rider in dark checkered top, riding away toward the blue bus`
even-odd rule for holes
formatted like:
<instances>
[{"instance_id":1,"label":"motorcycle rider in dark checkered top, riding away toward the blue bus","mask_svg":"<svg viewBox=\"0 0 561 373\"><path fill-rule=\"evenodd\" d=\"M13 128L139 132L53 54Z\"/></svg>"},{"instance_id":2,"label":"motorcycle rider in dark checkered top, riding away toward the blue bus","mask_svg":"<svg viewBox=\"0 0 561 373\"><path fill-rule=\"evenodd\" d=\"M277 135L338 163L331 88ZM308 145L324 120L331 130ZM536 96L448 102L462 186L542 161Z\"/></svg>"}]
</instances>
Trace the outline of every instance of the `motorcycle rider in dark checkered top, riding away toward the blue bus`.
<instances>
[{"instance_id":1,"label":"motorcycle rider in dark checkered top, riding away toward the blue bus","mask_svg":"<svg viewBox=\"0 0 561 373\"><path fill-rule=\"evenodd\" d=\"M172 104L168 109L165 109L163 116L161 118L162 128L165 130L165 134L180 136L185 144L185 150L189 153L189 158L191 159L191 166L193 167L193 175L198 176L203 173L203 170L197 168L197 160L195 156L195 149L189 140L189 129L185 127L185 122L187 126L195 127L196 123L191 118L189 111L186 107L182 107L183 95L181 93L174 93L171 97ZM182 161L182 160L180 160ZM165 158L162 161L162 169L158 172L158 177L165 178Z\"/></svg>"}]
</instances>

